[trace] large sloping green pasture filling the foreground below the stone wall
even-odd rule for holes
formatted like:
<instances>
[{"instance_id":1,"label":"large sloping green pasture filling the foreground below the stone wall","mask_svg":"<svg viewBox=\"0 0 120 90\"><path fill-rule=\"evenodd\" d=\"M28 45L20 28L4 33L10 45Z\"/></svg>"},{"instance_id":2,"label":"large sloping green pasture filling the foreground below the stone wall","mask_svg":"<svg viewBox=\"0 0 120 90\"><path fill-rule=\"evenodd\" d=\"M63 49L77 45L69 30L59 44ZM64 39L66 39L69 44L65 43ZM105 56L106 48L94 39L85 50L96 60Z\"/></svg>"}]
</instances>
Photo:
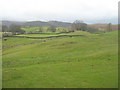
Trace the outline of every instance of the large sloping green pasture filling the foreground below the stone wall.
<instances>
[{"instance_id":1,"label":"large sloping green pasture filling the foreground below the stone wall","mask_svg":"<svg viewBox=\"0 0 120 90\"><path fill-rule=\"evenodd\" d=\"M117 88L118 32L83 33L3 49L3 88Z\"/></svg>"}]
</instances>

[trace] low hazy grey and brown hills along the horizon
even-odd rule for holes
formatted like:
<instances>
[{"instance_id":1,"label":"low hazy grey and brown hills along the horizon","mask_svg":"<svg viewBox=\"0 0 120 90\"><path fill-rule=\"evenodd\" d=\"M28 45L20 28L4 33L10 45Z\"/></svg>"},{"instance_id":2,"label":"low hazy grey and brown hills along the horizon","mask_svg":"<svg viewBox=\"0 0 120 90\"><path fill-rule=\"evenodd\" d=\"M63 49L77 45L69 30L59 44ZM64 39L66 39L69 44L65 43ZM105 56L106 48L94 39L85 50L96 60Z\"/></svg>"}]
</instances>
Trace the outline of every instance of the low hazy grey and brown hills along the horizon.
<instances>
[{"instance_id":1,"label":"low hazy grey and brown hills along the horizon","mask_svg":"<svg viewBox=\"0 0 120 90\"><path fill-rule=\"evenodd\" d=\"M37 27L37 26L56 26L56 27L69 27L72 23L69 22L60 22L60 21L29 21L29 22L20 22L20 21L2 21L2 25L10 26L12 24L21 25L21 26L30 26L30 27ZM108 24L88 24L88 27L91 28L99 28L99 29L107 29ZM118 30L118 25L112 24L112 30Z\"/></svg>"}]
</instances>

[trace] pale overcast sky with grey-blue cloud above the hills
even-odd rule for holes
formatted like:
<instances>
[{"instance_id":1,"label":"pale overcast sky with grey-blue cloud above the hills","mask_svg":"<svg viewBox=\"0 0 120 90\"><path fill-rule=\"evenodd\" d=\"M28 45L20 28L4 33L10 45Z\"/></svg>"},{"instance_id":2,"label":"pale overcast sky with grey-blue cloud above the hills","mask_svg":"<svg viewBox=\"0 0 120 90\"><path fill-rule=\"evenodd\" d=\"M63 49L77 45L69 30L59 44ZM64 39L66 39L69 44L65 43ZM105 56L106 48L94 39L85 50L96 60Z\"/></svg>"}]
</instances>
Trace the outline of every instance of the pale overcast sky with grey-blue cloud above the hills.
<instances>
[{"instance_id":1,"label":"pale overcast sky with grey-blue cloud above the hills","mask_svg":"<svg viewBox=\"0 0 120 90\"><path fill-rule=\"evenodd\" d=\"M0 19L117 23L119 0L0 0Z\"/></svg>"}]
</instances>

